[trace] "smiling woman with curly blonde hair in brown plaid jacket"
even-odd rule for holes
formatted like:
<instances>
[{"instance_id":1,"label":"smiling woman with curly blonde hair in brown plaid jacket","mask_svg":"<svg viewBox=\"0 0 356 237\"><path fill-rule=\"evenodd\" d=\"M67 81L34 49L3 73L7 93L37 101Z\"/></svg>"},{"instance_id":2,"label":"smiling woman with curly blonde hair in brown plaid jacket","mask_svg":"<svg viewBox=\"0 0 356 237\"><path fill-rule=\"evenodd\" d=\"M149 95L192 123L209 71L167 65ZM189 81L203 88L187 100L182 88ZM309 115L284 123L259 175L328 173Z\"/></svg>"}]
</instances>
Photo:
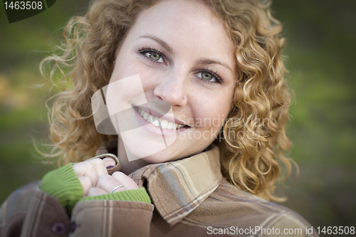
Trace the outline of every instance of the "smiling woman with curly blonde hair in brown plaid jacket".
<instances>
[{"instance_id":1,"label":"smiling woman with curly blonde hair in brown plaid jacket","mask_svg":"<svg viewBox=\"0 0 356 237\"><path fill-rule=\"evenodd\" d=\"M95 1L45 59L72 67L48 155L67 165L7 199L0 233L316 236L264 200L277 199L275 153L290 171L280 32L253 0Z\"/></svg>"}]
</instances>

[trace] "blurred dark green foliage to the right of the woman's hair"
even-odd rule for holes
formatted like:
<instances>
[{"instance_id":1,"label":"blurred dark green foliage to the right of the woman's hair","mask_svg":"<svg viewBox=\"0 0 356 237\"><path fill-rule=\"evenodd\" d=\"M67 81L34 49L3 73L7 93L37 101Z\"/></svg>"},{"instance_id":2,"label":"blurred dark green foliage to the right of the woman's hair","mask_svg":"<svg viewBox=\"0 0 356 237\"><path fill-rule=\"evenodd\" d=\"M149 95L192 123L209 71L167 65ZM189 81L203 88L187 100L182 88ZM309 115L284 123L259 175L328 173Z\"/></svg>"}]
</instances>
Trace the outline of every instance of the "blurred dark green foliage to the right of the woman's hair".
<instances>
[{"instance_id":1,"label":"blurred dark green foliage to the right of the woman's hair","mask_svg":"<svg viewBox=\"0 0 356 237\"><path fill-rule=\"evenodd\" d=\"M274 1L295 91L290 157L298 181L283 204L313 226L356 223L356 2Z\"/></svg>"}]
</instances>

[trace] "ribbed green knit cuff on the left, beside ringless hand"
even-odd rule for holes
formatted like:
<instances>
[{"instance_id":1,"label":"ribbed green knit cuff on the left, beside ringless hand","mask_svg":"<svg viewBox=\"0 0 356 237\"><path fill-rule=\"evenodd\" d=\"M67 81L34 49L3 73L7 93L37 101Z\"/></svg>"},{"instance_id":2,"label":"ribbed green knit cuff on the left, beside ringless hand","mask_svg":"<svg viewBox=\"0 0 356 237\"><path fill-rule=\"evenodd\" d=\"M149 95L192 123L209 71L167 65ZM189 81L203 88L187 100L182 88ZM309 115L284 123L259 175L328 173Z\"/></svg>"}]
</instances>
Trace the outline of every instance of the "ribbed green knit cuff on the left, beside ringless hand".
<instances>
[{"instance_id":1,"label":"ribbed green knit cuff on the left, beside ringless hand","mask_svg":"<svg viewBox=\"0 0 356 237\"><path fill-rule=\"evenodd\" d=\"M75 203L83 196L82 184L73 170L74 163L47 173L40 188L47 194L56 197L63 208L71 213Z\"/></svg>"}]
</instances>

